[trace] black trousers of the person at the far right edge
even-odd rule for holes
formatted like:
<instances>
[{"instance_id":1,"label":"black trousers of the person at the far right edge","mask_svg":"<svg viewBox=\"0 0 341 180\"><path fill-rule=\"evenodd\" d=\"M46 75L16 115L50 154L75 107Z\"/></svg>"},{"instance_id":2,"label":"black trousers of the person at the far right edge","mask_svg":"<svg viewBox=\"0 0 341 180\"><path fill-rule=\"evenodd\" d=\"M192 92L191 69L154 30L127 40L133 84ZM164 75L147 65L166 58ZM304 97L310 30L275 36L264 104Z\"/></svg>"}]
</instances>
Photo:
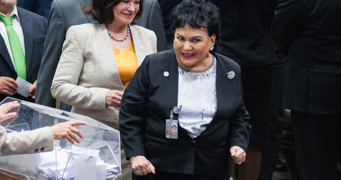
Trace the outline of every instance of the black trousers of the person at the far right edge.
<instances>
[{"instance_id":1,"label":"black trousers of the person at the far right edge","mask_svg":"<svg viewBox=\"0 0 341 180\"><path fill-rule=\"evenodd\" d=\"M337 180L341 114L291 110L300 180Z\"/></svg>"}]
</instances>

